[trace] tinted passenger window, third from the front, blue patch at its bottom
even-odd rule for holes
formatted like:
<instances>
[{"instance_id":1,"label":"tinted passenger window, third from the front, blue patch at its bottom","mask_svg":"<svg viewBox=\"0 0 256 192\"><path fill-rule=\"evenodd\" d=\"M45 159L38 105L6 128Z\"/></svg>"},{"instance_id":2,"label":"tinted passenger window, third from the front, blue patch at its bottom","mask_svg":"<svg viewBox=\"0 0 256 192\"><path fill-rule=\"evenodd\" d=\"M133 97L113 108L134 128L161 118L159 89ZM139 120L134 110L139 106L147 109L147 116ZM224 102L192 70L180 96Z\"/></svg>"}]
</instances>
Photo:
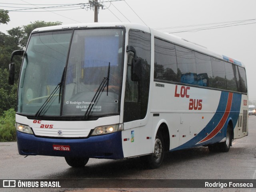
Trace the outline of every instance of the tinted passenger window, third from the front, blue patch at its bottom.
<instances>
[{"instance_id":1,"label":"tinted passenger window, third from the front, blue patch at its bottom","mask_svg":"<svg viewBox=\"0 0 256 192\"><path fill-rule=\"evenodd\" d=\"M212 87L212 63L210 56L195 52L197 84Z\"/></svg>"}]
</instances>

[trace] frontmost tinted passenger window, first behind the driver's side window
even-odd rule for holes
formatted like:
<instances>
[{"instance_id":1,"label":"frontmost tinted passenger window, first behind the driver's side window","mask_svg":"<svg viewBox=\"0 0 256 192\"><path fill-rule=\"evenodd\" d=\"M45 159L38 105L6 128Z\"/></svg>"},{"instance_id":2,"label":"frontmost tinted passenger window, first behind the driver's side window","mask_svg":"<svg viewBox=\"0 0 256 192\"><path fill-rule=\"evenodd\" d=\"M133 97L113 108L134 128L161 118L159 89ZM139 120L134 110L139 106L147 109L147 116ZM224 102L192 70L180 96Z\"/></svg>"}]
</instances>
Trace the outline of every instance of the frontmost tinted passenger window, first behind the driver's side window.
<instances>
[{"instance_id":1,"label":"frontmost tinted passenger window, first behind the driver's side window","mask_svg":"<svg viewBox=\"0 0 256 192\"><path fill-rule=\"evenodd\" d=\"M177 60L174 44L155 38L154 78L177 81Z\"/></svg>"}]
</instances>

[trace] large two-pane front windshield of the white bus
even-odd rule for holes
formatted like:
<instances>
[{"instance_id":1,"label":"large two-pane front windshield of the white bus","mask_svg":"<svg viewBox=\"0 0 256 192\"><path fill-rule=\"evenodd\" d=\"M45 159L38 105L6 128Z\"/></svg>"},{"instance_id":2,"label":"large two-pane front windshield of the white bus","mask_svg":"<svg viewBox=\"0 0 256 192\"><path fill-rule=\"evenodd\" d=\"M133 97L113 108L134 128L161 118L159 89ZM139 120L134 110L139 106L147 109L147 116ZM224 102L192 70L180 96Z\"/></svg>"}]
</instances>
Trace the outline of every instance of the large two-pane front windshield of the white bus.
<instances>
[{"instance_id":1,"label":"large two-pane front windshield of the white bus","mask_svg":"<svg viewBox=\"0 0 256 192\"><path fill-rule=\"evenodd\" d=\"M17 112L81 117L91 105L89 116L119 114L123 46L121 29L32 34L22 65Z\"/></svg>"}]
</instances>

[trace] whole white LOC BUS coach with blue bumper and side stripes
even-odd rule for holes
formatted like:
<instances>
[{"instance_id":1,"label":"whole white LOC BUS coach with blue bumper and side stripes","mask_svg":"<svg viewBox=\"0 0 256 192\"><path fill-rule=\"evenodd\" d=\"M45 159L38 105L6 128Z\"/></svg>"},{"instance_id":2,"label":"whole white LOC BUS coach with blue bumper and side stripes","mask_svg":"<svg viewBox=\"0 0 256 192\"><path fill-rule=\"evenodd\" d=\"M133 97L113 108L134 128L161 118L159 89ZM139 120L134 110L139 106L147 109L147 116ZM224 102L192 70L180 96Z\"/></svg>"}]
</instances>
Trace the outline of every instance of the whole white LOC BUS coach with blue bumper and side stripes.
<instances>
[{"instance_id":1,"label":"whole white LOC BUS coach with blue bumper and side stripes","mask_svg":"<svg viewBox=\"0 0 256 192\"><path fill-rule=\"evenodd\" d=\"M51 26L15 55L21 155L63 156L72 167L140 156L158 168L165 152L227 152L248 135L242 63L176 36L131 23Z\"/></svg>"}]
</instances>

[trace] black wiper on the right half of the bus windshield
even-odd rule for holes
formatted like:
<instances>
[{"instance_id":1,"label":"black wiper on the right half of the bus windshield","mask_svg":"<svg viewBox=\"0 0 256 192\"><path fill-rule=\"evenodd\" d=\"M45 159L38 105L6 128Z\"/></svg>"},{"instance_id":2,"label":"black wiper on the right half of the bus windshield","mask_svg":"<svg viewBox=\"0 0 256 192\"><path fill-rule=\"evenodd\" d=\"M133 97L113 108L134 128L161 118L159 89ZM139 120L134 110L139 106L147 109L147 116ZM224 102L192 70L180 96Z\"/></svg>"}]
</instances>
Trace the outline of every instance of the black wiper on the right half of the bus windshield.
<instances>
[{"instance_id":1,"label":"black wiper on the right half of the bus windshield","mask_svg":"<svg viewBox=\"0 0 256 192\"><path fill-rule=\"evenodd\" d=\"M92 108L94 106L94 104L96 103L99 95L100 95L100 92L103 92L104 88L107 86L107 96L108 96L108 82L109 82L109 72L110 72L110 62L108 63L108 77L104 77L102 79L102 82L100 84L100 86L98 87L96 93L94 94L93 98L92 98L92 101L90 102L85 114L84 114L84 118L85 120L87 120L89 118L89 115L92 111Z\"/></svg>"}]
</instances>

